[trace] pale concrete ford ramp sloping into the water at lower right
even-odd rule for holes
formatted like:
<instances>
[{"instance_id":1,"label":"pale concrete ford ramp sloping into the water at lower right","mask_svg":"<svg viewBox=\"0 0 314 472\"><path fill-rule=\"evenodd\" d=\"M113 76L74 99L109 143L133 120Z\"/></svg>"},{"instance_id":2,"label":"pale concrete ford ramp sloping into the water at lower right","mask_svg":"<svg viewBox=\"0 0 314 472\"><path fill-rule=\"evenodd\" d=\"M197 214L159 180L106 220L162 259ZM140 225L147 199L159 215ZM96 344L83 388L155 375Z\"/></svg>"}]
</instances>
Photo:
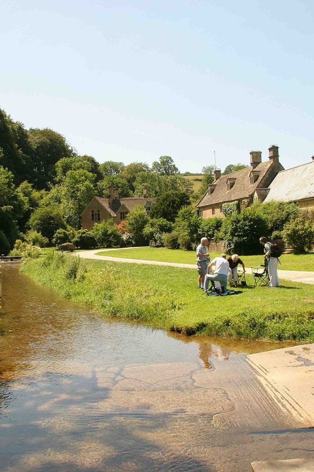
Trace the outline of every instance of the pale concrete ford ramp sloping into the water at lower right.
<instances>
[{"instance_id":1,"label":"pale concrete ford ramp sloping into the water at lower right","mask_svg":"<svg viewBox=\"0 0 314 472\"><path fill-rule=\"evenodd\" d=\"M300 428L314 427L314 344L251 354L248 362L269 395Z\"/></svg>"}]
</instances>

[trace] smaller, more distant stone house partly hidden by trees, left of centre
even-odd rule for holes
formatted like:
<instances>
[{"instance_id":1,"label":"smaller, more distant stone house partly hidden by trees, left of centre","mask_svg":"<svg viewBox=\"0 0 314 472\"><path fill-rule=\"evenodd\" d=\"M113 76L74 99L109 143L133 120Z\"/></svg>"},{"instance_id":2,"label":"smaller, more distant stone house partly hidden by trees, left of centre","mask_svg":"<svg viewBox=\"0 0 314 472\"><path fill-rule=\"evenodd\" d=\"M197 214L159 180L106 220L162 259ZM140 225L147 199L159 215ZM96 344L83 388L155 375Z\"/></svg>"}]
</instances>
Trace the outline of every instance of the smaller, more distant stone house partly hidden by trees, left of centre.
<instances>
[{"instance_id":1,"label":"smaller, more distant stone house partly hidden by trees, left of centre","mask_svg":"<svg viewBox=\"0 0 314 472\"><path fill-rule=\"evenodd\" d=\"M119 190L108 187L108 197L94 197L81 214L82 229L91 230L95 223L112 219L115 224L126 219L127 214L136 206L142 205L147 213L150 212L156 198L148 198L146 188L143 197L119 198Z\"/></svg>"}]
</instances>

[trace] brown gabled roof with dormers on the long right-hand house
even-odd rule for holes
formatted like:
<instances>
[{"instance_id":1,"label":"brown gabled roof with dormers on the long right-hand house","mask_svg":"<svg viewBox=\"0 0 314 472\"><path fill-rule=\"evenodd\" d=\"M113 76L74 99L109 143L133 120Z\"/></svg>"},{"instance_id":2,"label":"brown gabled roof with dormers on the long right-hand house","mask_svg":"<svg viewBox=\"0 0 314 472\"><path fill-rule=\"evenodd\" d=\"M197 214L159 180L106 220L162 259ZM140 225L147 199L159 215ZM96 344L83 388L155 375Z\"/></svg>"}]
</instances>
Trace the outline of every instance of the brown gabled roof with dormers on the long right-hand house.
<instances>
[{"instance_id":1,"label":"brown gabled roof with dormers on the long right-hand house","mask_svg":"<svg viewBox=\"0 0 314 472\"><path fill-rule=\"evenodd\" d=\"M265 177L266 172L271 167L272 162L265 161L261 162L254 169L254 173L260 173L259 178L256 182L251 183L250 174L252 172L252 167L245 167L245 169L240 169L239 171L233 172L232 174L227 174L226 176L221 176L215 182L214 191L208 195L206 192L196 207L206 207L208 205L220 204L224 202L232 202L241 198L250 197L256 188L261 184L263 177ZM233 187L228 190L227 181L235 179Z\"/></svg>"}]
</instances>

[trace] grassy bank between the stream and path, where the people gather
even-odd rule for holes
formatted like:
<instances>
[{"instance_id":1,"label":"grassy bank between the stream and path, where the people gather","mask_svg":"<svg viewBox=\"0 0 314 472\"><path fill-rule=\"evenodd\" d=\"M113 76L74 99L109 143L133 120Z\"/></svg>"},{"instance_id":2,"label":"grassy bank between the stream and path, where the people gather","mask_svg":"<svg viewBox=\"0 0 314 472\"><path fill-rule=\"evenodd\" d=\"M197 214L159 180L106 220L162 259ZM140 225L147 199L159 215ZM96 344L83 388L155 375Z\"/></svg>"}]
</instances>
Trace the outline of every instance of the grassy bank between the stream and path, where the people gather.
<instances>
[{"instance_id":1,"label":"grassy bank between the stream and path, where the people gather","mask_svg":"<svg viewBox=\"0 0 314 472\"><path fill-rule=\"evenodd\" d=\"M208 297L190 269L85 263L62 253L26 261L22 270L104 315L188 335L314 342L313 285L285 282L280 288L247 287L240 295ZM252 277L247 281L253 285Z\"/></svg>"}]
</instances>

